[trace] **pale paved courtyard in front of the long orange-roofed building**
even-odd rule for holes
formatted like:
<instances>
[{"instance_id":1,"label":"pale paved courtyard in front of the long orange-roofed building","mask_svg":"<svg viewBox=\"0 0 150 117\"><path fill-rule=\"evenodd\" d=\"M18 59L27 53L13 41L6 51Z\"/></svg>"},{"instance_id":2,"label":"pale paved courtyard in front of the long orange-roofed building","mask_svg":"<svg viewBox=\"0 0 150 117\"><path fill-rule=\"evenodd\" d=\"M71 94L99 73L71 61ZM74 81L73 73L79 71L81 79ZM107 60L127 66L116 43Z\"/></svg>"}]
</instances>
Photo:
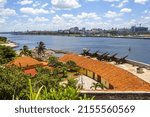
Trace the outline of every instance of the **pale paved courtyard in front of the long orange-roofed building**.
<instances>
[{"instance_id":1,"label":"pale paved courtyard in front of the long orange-roofed building","mask_svg":"<svg viewBox=\"0 0 150 117\"><path fill-rule=\"evenodd\" d=\"M98 83L97 81L95 81L92 78L89 78L85 75L81 75L76 79L78 81L77 86L83 84L83 89L84 90L94 90L94 88L91 89L90 87L93 86L93 83ZM97 90L100 90L100 89L101 88L97 88Z\"/></svg>"}]
</instances>

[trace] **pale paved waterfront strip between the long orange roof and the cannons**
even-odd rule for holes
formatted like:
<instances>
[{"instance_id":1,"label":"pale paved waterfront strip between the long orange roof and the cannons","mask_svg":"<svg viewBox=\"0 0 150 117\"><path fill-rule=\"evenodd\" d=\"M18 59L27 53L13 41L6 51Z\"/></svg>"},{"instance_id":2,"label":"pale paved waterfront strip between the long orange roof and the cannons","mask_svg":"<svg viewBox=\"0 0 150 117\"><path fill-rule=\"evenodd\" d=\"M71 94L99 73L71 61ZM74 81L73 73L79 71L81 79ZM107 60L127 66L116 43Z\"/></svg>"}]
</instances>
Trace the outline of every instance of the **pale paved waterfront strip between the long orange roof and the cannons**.
<instances>
[{"instance_id":1,"label":"pale paved waterfront strip between the long orange roof and the cannons","mask_svg":"<svg viewBox=\"0 0 150 117\"><path fill-rule=\"evenodd\" d=\"M143 68L144 73L139 74L139 73L137 73L137 68L138 68L137 66L133 66L133 65L128 64L128 63L116 65L114 62L111 62L111 64L113 64L117 67L120 67L122 69L125 69L125 70L129 71L130 73L138 76L142 80L150 83L150 70Z\"/></svg>"}]
</instances>

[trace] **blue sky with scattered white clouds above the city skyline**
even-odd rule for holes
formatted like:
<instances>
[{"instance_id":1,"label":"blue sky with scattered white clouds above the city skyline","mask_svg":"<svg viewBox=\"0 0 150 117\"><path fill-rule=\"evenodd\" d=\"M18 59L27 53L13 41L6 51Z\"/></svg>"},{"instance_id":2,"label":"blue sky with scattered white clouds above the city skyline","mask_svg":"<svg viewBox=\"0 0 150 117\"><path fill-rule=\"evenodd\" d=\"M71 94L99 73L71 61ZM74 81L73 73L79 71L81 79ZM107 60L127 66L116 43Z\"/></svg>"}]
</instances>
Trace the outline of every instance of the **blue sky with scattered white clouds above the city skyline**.
<instances>
[{"instance_id":1,"label":"blue sky with scattered white clouds above the city skyline","mask_svg":"<svg viewBox=\"0 0 150 117\"><path fill-rule=\"evenodd\" d=\"M150 0L0 0L0 32L140 24L150 29Z\"/></svg>"}]
</instances>

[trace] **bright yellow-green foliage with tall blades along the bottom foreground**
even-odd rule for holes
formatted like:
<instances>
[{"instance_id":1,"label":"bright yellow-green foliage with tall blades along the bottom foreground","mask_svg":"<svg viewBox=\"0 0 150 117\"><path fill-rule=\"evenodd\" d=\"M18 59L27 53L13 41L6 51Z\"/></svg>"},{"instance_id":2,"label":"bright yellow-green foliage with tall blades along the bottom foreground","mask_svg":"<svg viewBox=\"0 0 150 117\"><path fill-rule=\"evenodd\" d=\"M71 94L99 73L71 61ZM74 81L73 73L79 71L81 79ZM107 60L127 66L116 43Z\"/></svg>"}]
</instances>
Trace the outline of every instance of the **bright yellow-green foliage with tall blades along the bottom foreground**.
<instances>
[{"instance_id":1,"label":"bright yellow-green foliage with tall blades along the bottom foreground","mask_svg":"<svg viewBox=\"0 0 150 117\"><path fill-rule=\"evenodd\" d=\"M30 100L93 100L86 95L80 96L79 90L72 86L52 87L49 90L45 86L41 86L37 92L34 92L29 80L29 99Z\"/></svg>"}]
</instances>

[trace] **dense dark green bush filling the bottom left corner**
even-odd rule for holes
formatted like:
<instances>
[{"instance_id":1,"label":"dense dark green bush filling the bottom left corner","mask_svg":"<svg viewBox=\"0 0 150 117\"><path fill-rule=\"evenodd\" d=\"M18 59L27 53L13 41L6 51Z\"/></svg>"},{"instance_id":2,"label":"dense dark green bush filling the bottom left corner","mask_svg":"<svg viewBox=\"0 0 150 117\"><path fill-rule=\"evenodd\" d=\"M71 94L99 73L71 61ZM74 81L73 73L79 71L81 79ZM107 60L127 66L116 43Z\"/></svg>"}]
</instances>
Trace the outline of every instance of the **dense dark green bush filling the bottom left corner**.
<instances>
[{"instance_id":1,"label":"dense dark green bush filling the bottom left corner","mask_svg":"<svg viewBox=\"0 0 150 117\"><path fill-rule=\"evenodd\" d=\"M26 99L28 78L17 67L0 67L0 99Z\"/></svg>"}]
</instances>

